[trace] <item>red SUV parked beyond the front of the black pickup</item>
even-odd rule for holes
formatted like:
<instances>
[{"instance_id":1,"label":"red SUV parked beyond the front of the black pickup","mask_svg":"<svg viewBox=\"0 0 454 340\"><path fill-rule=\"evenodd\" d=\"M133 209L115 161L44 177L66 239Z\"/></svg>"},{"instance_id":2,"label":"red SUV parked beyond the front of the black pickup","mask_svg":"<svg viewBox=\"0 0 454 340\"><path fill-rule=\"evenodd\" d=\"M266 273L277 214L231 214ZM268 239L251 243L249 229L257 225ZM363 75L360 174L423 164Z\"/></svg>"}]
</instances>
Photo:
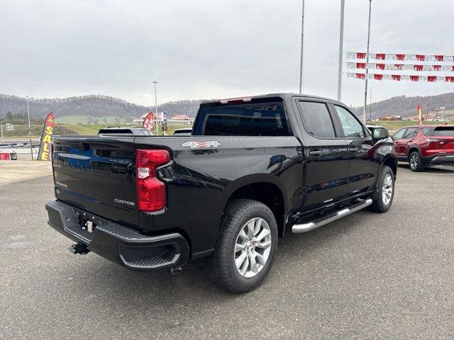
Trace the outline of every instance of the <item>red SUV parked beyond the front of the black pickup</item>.
<instances>
[{"instance_id":1,"label":"red SUV parked beyond the front of the black pickup","mask_svg":"<svg viewBox=\"0 0 454 340\"><path fill-rule=\"evenodd\" d=\"M397 159L409 162L411 171L430 165L454 165L454 125L403 128L392 136Z\"/></svg>"}]
</instances>

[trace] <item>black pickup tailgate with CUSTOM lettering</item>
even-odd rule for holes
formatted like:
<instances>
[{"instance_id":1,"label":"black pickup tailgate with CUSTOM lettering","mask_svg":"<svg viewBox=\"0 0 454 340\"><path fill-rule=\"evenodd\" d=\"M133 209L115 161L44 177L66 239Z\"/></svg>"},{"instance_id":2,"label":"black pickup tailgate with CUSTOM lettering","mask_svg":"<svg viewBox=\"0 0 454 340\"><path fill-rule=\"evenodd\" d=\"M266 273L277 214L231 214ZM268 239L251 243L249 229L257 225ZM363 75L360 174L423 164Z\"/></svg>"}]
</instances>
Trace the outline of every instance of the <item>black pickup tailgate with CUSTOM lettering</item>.
<instances>
[{"instance_id":1,"label":"black pickup tailgate with CUSTOM lettering","mask_svg":"<svg viewBox=\"0 0 454 340\"><path fill-rule=\"evenodd\" d=\"M57 199L138 225L134 137L55 137L52 162Z\"/></svg>"}]
</instances>

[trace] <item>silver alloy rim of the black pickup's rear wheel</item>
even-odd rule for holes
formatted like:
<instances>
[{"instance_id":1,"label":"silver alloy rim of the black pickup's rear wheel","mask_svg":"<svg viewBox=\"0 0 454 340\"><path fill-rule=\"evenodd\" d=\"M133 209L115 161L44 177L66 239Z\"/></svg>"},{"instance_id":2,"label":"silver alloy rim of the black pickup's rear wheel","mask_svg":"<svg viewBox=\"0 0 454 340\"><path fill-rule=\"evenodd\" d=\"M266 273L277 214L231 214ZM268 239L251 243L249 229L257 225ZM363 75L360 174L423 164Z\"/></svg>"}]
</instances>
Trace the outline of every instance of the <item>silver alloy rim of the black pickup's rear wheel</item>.
<instances>
[{"instance_id":1,"label":"silver alloy rim of the black pickup's rear wheel","mask_svg":"<svg viewBox=\"0 0 454 340\"><path fill-rule=\"evenodd\" d=\"M253 278L263 269L270 257L271 229L260 217L254 217L241 227L236 237L234 261L243 278Z\"/></svg>"}]
</instances>

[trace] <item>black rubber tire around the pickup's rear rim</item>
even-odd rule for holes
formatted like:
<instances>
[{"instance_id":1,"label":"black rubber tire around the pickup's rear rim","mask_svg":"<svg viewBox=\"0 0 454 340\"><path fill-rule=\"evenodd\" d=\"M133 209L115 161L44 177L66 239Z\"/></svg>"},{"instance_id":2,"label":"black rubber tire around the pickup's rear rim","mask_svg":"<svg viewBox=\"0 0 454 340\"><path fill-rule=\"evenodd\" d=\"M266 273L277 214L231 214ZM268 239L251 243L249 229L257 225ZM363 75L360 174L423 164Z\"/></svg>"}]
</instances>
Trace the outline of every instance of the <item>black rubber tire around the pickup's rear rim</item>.
<instances>
[{"instance_id":1,"label":"black rubber tire around the pickup's rear rim","mask_svg":"<svg viewBox=\"0 0 454 340\"><path fill-rule=\"evenodd\" d=\"M253 277L245 278L241 276L236 268L235 261L236 254L238 253L235 252L235 246L238 234L245 227L246 222L255 217L265 220L270 228L270 253L260 271ZM255 200L246 199L229 201L221 218L221 225L219 226L218 237L214 247L213 267L216 283L222 288L235 293L245 293L256 288L262 283L270 271L272 261L276 254L277 238L275 215L273 215L267 205ZM249 259L248 263L250 263Z\"/></svg>"}]
</instances>

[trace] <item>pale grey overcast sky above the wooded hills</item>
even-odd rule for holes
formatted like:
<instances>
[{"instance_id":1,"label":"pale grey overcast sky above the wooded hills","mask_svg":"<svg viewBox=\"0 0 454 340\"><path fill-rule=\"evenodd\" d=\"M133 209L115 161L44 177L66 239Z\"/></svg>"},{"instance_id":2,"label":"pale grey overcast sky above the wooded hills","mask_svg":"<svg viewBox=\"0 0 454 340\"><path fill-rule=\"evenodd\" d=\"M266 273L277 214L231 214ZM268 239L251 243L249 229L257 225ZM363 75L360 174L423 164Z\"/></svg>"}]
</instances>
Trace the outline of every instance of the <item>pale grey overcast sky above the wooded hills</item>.
<instances>
[{"instance_id":1,"label":"pale grey overcast sky above the wooded hills","mask_svg":"<svg viewBox=\"0 0 454 340\"><path fill-rule=\"evenodd\" d=\"M344 51L364 51L367 0L345 0ZM336 98L340 0L306 0L304 92ZM371 52L454 55L454 1L373 0ZM298 91L301 0L0 1L0 93L154 103ZM373 101L451 83L370 81ZM364 82L343 80L348 105Z\"/></svg>"}]
</instances>

